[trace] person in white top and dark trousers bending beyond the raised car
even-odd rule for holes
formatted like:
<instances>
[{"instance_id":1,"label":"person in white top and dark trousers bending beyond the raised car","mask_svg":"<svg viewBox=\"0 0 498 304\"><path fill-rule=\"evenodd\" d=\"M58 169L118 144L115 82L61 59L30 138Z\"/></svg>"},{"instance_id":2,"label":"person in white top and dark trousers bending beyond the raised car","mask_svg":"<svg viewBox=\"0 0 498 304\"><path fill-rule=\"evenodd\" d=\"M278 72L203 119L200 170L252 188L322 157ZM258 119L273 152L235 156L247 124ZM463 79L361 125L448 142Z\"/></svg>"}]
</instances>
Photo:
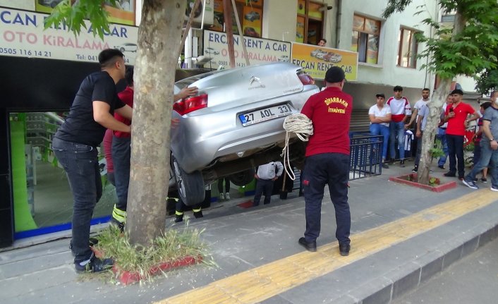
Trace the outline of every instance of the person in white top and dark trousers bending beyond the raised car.
<instances>
[{"instance_id":1,"label":"person in white top and dark trousers bending beyond the raised car","mask_svg":"<svg viewBox=\"0 0 498 304\"><path fill-rule=\"evenodd\" d=\"M257 168L254 177L256 181L256 193L254 194L253 206L260 205L261 195L265 194L264 205L268 205L272 199L273 181L276 181L284 172L281 162L269 162Z\"/></svg>"}]
</instances>

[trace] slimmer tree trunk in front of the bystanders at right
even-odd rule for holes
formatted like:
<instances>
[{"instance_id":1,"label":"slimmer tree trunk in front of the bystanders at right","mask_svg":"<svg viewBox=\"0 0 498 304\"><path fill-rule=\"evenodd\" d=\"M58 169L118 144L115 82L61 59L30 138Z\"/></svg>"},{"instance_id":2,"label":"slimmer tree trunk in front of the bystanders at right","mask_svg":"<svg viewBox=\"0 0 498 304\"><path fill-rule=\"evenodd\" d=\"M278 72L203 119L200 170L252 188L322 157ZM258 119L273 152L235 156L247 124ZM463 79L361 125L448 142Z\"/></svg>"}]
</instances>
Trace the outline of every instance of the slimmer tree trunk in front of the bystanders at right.
<instances>
[{"instance_id":1,"label":"slimmer tree trunk in front of the bystanders at right","mask_svg":"<svg viewBox=\"0 0 498 304\"><path fill-rule=\"evenodd\" d=\"M457 8L455 14L455 23L453 32L451 33L451 41L455 40L456 35L462 32L465 28L466 20L463 18L460 8ZM446 100L447 94L451 87L451 78L441 79L439 87L437 87L436 92L432 95L431 102L427 104L430 110L429 117L427 117L427 123L425 124L425 131L422 136L422 152L420 154L420 163L418 164L418 183L425 185L429 184L429 167L431 162L430 148L434 146L434 139L437 131L437 123L439 123L439 114L441 113L441 107Z\"/></svg>"}]
</instances>

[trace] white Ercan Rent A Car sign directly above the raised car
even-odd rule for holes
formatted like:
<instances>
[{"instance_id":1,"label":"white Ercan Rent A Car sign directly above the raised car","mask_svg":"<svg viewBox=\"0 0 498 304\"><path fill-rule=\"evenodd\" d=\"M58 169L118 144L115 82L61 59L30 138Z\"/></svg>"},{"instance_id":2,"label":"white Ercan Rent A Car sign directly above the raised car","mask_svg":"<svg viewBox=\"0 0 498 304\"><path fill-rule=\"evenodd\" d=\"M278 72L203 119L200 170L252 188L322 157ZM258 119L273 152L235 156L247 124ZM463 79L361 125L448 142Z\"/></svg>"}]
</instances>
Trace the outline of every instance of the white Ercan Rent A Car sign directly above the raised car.
<instances>
[{"instance_id":1,"label":"white Ercan Rent A Car sign directly above the raised car","mask_svg":"<svg viewBox=\"0 0 498 304\"><path fill-rule=\"evenodd\" d=\"M245 66L242 43L247 49L246 56L250 64L269 63L273 61L289 61L291 43L255 37L233 35L236 67ZM206 68L230 68L228 39L224 32L204 31L204 56L211 58Z\"/></svg>"}]
</instances>

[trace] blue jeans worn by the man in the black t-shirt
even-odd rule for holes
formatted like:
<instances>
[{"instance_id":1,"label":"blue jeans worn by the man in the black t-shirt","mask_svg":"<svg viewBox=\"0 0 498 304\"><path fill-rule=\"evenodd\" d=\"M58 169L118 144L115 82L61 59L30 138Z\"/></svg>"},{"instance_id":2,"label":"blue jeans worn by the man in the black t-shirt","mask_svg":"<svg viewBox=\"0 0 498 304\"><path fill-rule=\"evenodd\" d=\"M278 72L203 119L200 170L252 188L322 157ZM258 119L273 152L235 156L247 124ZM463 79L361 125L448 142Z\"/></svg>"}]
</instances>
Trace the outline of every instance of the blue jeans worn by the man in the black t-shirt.
<instances>
[{"instance_id":1,"label":"blue jeans worn by the man in the black t-shirt","mask_svg":"<svg viewBox=\"0 0 498 304\"><path fill-rule=\"evenodd\" d=\"M73 193L73 253L74 262L90 258L90 220L95 204L102 197L97 147L54 138L52 150L66 171Z\"/></svg>"}]
</instances>

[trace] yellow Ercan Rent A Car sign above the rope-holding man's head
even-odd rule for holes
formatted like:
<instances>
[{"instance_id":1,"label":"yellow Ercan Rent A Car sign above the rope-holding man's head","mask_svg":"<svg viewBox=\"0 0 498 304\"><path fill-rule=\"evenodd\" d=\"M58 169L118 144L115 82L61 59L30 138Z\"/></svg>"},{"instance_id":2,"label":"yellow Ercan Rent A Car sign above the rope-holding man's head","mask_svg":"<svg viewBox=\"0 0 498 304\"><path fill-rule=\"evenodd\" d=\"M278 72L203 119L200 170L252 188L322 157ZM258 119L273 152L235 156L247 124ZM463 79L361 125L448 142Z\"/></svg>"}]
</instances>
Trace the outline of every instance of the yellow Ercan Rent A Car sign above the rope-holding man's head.
<instances>
[{"instance_id":1,"label":"yellow Ercan Rent A Car sign above the rope-holding man's head","mask_svg":"<svg viewBox=\"0 0 498 304\"><path fill-rule=\"evenodd\" d=\"M332 66L341 67L347 80L356 80L358 74L358 53L329 47L293 42L291 63L315 79L324 79L325 72Z\"/></svg>"}]
</instances>

